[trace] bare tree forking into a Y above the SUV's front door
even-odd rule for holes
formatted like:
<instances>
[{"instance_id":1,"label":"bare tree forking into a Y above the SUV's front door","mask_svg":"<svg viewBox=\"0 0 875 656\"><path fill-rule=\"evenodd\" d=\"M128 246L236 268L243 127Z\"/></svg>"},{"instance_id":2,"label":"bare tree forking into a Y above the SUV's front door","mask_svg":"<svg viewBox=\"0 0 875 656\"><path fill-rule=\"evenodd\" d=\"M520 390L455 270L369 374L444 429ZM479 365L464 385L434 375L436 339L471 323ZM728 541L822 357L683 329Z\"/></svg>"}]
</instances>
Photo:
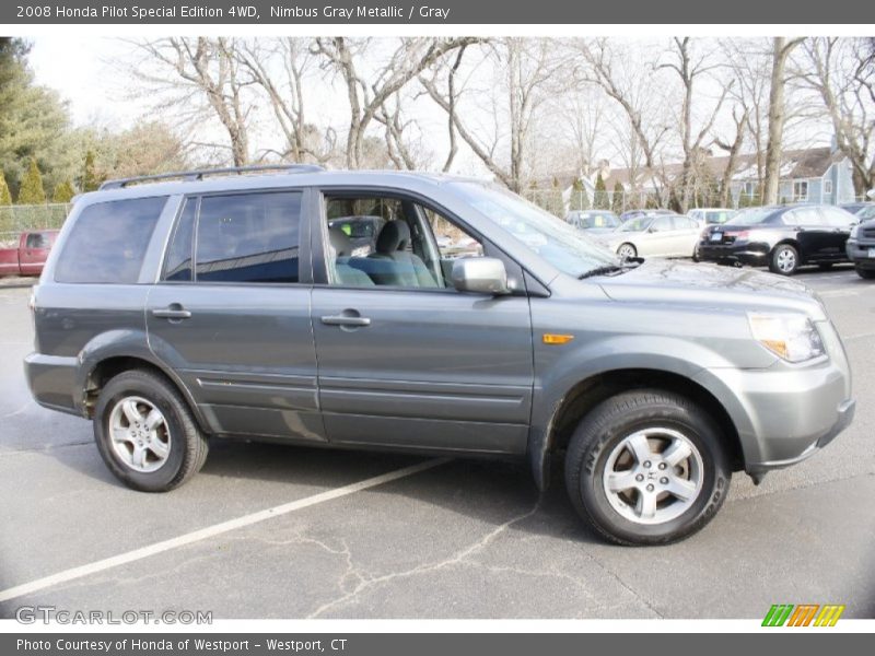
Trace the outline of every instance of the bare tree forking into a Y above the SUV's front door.
<instances>
[{"instance_id":1,"label":"bare tree forking into a Y above the SUV's front door","mask_svg":"<svg viewBox=\"0 0 875 656\"><path fill-rule=\"evenodd\" d=\"M350 40L342 36L316 38L313 52L324 57L323 66L337 74L346 87L350 109L347 165L353 168L361 165L369 127L378 117L390 114L385 105L393 98L397 101L397 94L410 81L457 48L478 40L474 37L401 38L388 60L375 73L365 77L360 71L360 65L369 39ZM397 129L401 125L394 127ZM387 128L392 129L392 126Z\"/></svg>"}]
</instances>

